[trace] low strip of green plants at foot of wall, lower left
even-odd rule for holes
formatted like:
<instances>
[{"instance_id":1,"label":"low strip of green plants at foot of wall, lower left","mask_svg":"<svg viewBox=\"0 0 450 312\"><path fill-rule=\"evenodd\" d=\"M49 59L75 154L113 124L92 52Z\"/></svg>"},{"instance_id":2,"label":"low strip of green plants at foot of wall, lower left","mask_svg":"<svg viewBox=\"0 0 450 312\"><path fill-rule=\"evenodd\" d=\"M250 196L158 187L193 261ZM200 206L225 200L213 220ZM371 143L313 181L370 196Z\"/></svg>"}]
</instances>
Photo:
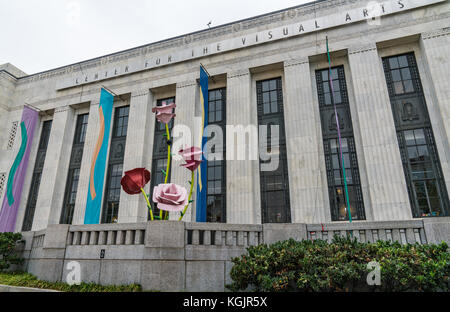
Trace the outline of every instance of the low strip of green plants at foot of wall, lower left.
<instances>
[{"instance_id":1,"label":"low strip of green plants at foot of wall, lower left","mask_svg":"<svg viewBox=\"0 0 450 312\"><path fill-rule=\"evenodd\" d=\"M65 292L141 292L140 285L125 286L101 286L94 283L81 283L80 285L69 285L61 282L40 281L35 276L24 272L0 273L0 284L31 287L40 289L53 289Z\"/></svg>"}]
</instances>

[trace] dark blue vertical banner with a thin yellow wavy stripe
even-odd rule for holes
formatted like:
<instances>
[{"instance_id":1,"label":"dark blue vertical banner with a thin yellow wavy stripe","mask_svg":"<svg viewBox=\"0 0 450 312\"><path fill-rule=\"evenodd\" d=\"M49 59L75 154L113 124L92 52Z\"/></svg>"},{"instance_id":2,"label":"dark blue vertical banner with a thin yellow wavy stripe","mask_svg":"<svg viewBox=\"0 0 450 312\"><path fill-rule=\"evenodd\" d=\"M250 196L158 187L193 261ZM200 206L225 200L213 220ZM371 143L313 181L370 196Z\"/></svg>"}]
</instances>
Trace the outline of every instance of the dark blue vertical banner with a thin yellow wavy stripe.
<instances>
[{"instance_id":1,"label":"dark blue vertical banner with a thin yellow wavy stripe","mask_svg":"<svg viewBox=\"0 0 450 312\"><path fill-rule=\"evenodd\" d=\"M202 126L201 126L201 147L204 149L207 137L205 129L208 126L208 85L209 76L206 73L203 66L200 66L200 104L202 106ZM198 168L197 172L197 202L196 202L196 220L197 222L206 222L206 190L208 187L206 170L208 162L206 161L205 154L203 154L203 162Z\"/></svg>"}]
</instances>

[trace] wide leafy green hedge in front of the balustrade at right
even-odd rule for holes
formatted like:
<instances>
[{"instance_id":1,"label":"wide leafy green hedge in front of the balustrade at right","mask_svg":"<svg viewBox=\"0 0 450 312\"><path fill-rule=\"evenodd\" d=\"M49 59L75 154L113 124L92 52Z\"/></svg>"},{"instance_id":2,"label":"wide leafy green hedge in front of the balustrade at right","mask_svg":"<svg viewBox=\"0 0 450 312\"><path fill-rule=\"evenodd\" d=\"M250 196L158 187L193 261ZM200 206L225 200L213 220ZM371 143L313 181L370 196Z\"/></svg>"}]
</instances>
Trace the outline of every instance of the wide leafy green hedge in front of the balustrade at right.
<instances>
[{"instance_id":1,"label":"wide leafy green hedge in front of the balustrade at right","mask_svg":"<svg viewBox=\"0 0 450 312\"><path fill-rule=\"evenodd\" d=\"M232 291L341 292L449 291L450 253L441 245L359 243L336 236L288 240L247 249L234 258L228 285ZM368 286L367 264L381 267L381 286Z\"/></svg>"}]
</instances>

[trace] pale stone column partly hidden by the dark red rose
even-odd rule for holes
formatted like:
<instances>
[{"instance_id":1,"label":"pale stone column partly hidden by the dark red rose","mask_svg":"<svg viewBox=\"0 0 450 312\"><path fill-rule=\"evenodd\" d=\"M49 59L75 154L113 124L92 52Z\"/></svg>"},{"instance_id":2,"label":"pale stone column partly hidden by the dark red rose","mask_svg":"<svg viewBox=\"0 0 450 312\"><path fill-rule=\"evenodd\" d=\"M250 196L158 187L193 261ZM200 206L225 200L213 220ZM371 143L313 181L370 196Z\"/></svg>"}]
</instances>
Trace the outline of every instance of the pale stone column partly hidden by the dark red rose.
<instances>
[{"instance_id":1,"label":"pale stone column partly hidden by the dark red rose","mask_svg":"<svg viewBox=\"0 0 450 312\"><path fill-rule=\"evenodd\" d=\"M152 114L153 94L150 90L131 93L128 134L125 147L123 171L148 167L155 130L155 118ZM150 185L145 191L149 193ZM119 223L147 221L147 203L142 195L128 195L123 190L120 194Z\"/></svg>"}]
</instances>

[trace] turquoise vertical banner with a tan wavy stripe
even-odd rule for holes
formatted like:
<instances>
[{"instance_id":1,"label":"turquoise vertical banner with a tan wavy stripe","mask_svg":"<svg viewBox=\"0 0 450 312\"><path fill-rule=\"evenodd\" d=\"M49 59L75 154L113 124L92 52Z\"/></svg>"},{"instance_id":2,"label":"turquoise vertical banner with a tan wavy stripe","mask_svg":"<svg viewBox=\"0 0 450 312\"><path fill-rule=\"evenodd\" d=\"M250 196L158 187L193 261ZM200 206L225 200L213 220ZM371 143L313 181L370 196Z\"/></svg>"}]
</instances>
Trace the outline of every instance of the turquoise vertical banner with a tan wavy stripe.
<instances>
[{"instance_id":1,"label":"turquoise vertical banner with a tan wavy stripe","mask_svg":"<svg viewBox=\"0 0 450 312\"><path fill-rule=\"evenodd\" d=\"M99 224L114 96L102 88L98 106L100 129L92 156L84 224Z\"/></svg>"}]
</instances>

